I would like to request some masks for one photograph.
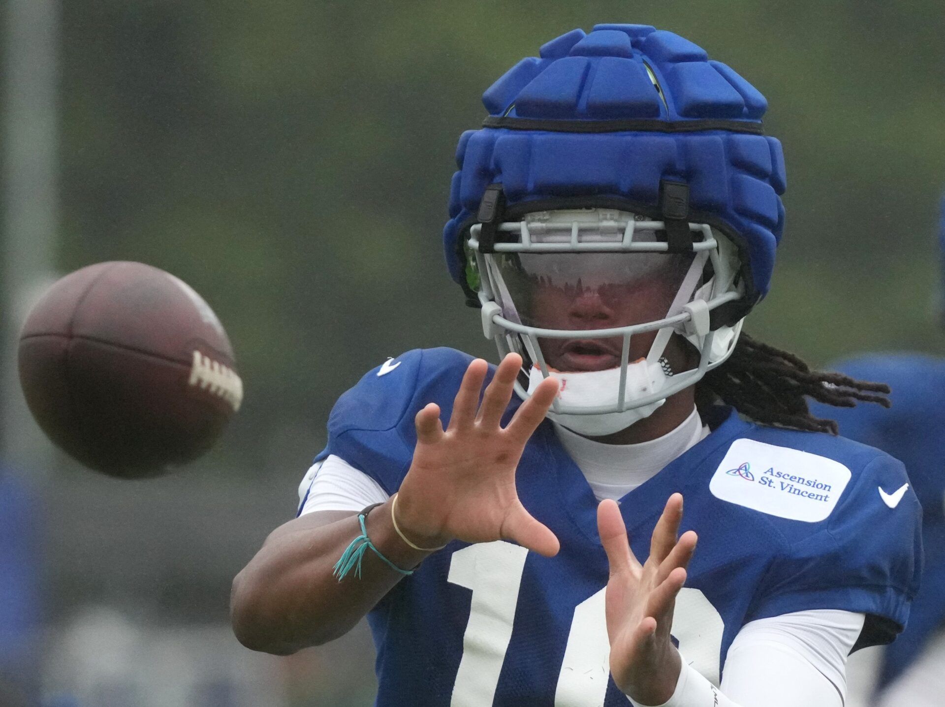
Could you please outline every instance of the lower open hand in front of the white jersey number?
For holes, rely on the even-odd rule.
[[[669,630],[676,595],[696,550],[694,531],[677,540],[681,520],[682,495],[674,493],[653,529],[649,557],[640,564],[630,549],[617,504],[605,500],[597,507],[597,531],[610,562],[606,598],[610,673],[624,694],[643,704],[667,701],[679,680],[681,660]]]

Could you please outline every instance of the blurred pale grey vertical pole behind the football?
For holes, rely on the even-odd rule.
[[[35,477],[49,470],[54,457],[20,390],[16,342],[29,306],[53,279],[59,4],[7,0],[6,6],[0,449],[9,469]]]

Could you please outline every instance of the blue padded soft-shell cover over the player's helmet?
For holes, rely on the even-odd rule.
[[[574,29],[540,54],[490,86],[488,127],[459,138],[443,231],[453,279],[466,288],[462,242],[491,183],[520,212],[531,201],[541,208],[571,198],[658,217],[660,183],[669,180],[689,184],[689,220],[711,223],[738,246],[747,305],[763,298],[785,188],[781,143],[761,134],[765,96],[696,44],[651,26]]]

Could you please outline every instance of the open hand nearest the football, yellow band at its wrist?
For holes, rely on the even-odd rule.
[[[433,547],[505,539],[541,555],[558,552],[558,538],[524,509],[515,488],[525,443],[558,394],[558,381],[542,381],[502,427],[521,366],[521,356],[507,354],[480,405],[489,366],[480,358],[472,361],[445,430],[438,405],[417,413],[417,448],[396,507],[397,523],[413,542]]]

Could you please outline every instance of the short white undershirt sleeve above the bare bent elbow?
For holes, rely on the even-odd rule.
[[[361,510],[387,501],[387,492],[368,474],[329,455],[316,462],[299,486],[299,515],[316,510]]]

